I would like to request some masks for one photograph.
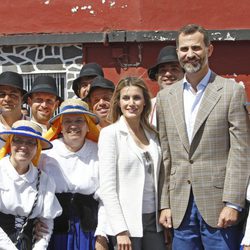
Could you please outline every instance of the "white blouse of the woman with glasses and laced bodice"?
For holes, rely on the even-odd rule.
[[[0,160],[0,211],[14,216],[27,216],[37,193],[38,170],[31,163],[28,172],[19,175],[9,159],[7,156]],[[37,241],[33,249],[47,249],[53,230],[53,219],[61,213],[62,208],[55,197],[55,184],[46,173],[42,172],[38,202],[30,218],[39,218],[46,223],[49,234]],[[2,241],[0,242],[2,249]]]

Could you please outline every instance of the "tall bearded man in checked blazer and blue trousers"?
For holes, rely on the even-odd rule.
[[[237,249],[250,164],[245,91],[209,69],[203,27],[183,27],[176,45],[184,79],[157,96],[160,223],[174,227],[173,249]]]

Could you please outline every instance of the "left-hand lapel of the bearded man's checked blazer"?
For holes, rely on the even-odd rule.
[[[184,117],[183,82],[179,81],[176,83],[176,88],[172,88],[169,94],[168,102],[172,112],[172,118],[174,119],[182,144],[186,151],[189,152],[190,145]]]

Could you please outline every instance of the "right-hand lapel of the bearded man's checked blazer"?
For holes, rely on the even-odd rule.
[[[194,130],[193,130],[193,139],[200,129],[201,125],[204,123],[213,107],[219,101],[221,94],[219,90],[222,88],[222,84],[216,81],[216,74],[212,72],[209,79],[208,85],[205,89],[204,96],[201,101],[199,111],[196,116]],[[194,141],[192,139],[192,142]]]

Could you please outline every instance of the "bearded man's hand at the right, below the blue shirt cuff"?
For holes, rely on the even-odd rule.
[[[239,212],[231,207],[224,207],[220,213],[217,226],[226,228],[234,225],[238,220]]]

